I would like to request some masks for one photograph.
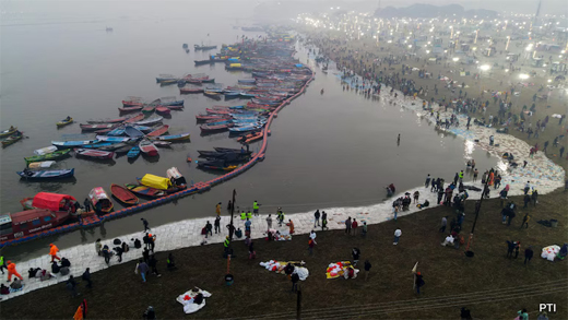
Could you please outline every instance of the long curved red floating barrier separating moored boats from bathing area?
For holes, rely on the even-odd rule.
[[[17,239],[1,241],[0,242],[0,248],[7,247],[7,246],[15,246],[15,245],[21,244],[21,242],[26,242],[26,241],[29,241],[29,240],[33,240],[33,239],[37,239],[37,238],[49,237],[51,235],[62,234],[62,233],[75,230],[75,229],[79,229],[79,228],[92,228],[92,227],[95,227],[95,226],[98,226],[98,225],[105,223],[106,221],[110,221],[110,220],[114,220],[114,218],[126,216],[128,214],[141,212],[141,211],[143,211],[145,209],[151,209],[151,208],[154,208],[154,206],[158,206],[161,204],[164,204],[164,203],[173,201],[173,200],[177,200],[177,199],[186,197],[186,195],[190,195],[190,194],[193,194],[193,193],[203,193],[205,191],[211,190],[211,187],[213,187],[215,185],[218,185],[218,183],[222,183],[222,182],[224,182],[226,180],[232,179],[233,177],[236,177],[236,176],[240,175],[241,173],[244,173],[244,171],[248,170],[249,168],[251,168],[258,162],[261,162],[261,161],[264,159],[267,145],[268,145],[268,137],[271,133],[270,132],[270,125],[272,125],[272,121],[273,121],[274,118],[277,118],[277,114],[280,112],[280,110],[282,110],[282,108],[284,108],[284,106],[289,105],[293,99],[295,99],[296,97],[298,97],[300,94],[303,94],[306,91],[306,87],[308,86],[308,84],[311,81],[313,81],[313,76],[315,75],[316,75],[316,73],[313,73],[313,71],[311,71],[311,78],[308,81],[306,81],[304,86],[295,95],[293,95],[292,97],[288,97],[287,99],[283,100],[279,105],[279,107],[276,107],[270,114],[270,117],[267,120],[267,126],[264,126],[264,128],[263,128],[263,133],[264,134],[262,135],[262,144],[261,144],[259,151],[257,153],[252,154],[252,158],[249,162],[247,162],[246,164],[241,165],[237,169],[235,169],[235,170],[233,170],[230,173],[227,173],[227,174],[225,174],[223,176],[220,176],[220,177],[217,177],[215,179],[209,180],[209,181],[196,182],[196,183],[193,183],[191,186],[191,188],[188,188],[188,189],[185,189],[185,190],[181,190],[181,191],[177,191],[175,193],[171,193],[171,194],[168,194],[168,195],[155,199],[155,200],[150,200],[150,201],[137,204],[137,205],[125,208],[125,209],[115,211],[113,213],[109,213],[109,214],[106,214],[106,215],[103,215],[103,216],[97,216],[95,214],[95,215],[91,215],[91,216],[86,216],[86,217],[81,218],[81,221],[79,223],[72,223],[72,224],[68,224],[68,225],[64,225],[64,226],[59,226],[59,227],[56,227],[56,228],[52,228],[52,229],[49,229],[49,230],[44,230],[44,232],[36,233],[36,234],[33,234],[33,235],[28,235],[28,236],[25,236],[25,237],[22,237],[22,238],[17,238]]]

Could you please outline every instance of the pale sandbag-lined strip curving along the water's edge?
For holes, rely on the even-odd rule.
[[[399,94],[399,96],[402,96]],[[383,90],[381,92],[381,99],[392,99],[392,97],[388,94],[387,90]],[[416,115],[418,117],[425,117],[430,121],[436,121],[434,117],[429,116],[429,111],[423,111],[419,106],[422,106],[421,99],[405,99],[404,97],[395,99],[397,105],[403,106],[405,108],[412,109],[416,111]],[[436,112],[436,108],[435,108]],[[450,112],[442,112],[440,109],[440,119],[449,118]],[[463,117],[463,116],[460,116]],[[472,119],[473,122],[473,119]],[[555,165],[552,161],[549,161],[546,155],[543,152],[537,152],[536,155],[534,155],[533,158],[529,157],[529,150],[530,146],[524,141],[521,141],[512,135],[508,134],[499,134],[496,133],[496,130],[493,128],[485,128],[485,127],[477,127],[472,126],[470,127],[470,130],[466,130],[465,128],[466,120],[460,118],[460,126],[459,127],[451,127],[448,129],[448,132],[451,132],[453,134],[457,134],[463,139],[465,139],[468,142],[466,144],[471,144],[472,147],[481,147],[483,150],[486,150],[488,153],[490,153],[494,156],[501,157],[501,155],[505,152],[513,153],[516,161],[519,164],[522,164],[522,162],[525,159],[529,162],[529,165],[525,168],[522,168],[522,165],[519,165],[517,168],[508,168],[508,164],[506,162],[501,162],[498,164],[497,169],[501,173],[502,181],[501,181],[501,189],[506,185],[510,185],[510,191],[509,195],[519,195],[522,194],[522,189],[524,188],[524,183],[526,181],[531,181],[531,186],[533,186],[535,189],[539,190],[539,193],[549,193],[553,190],[560,188],[564,186],[564,179],[565,179],[565,171],[561,167]],[[488,138],[489,135],[495,137],[495,143],[496,145],[489,145]],[[478,142],[474,142],[474,140],[478,140]],[[464,164],[465,167],[465,164]],[[483,174],[483,171],[486,168],[480,168],[480,175]],[[487,168],[488,169],[488,168]],[[468,173],[471,174],[471,173]],[[452,178],[454,173],[448,173],[448,176],[445,177],[447,181]],[[424,177],[426,178],[426,177]],[[435,177],[434,177],[435,178]],[[384,181],[384,185],[390,183],[391,181]],[[421,181],[421,183],[424,183],[424,181]],[[480,189],[483,188],[481,185],[481,181],[472,182],[472,181],[465,181],[464,185],[466,186],[475,186]],[[497,198],[499,189],[493,189],[490,192],[490,198]],[[356,206],[356,208],[332,208],[332,209],[320,209],[320,211],[326,211],[328,213],[328,227],[329,229],[341,229],[344,228],[344,222],[350,216],[352,218],[355,218],[359,222],[359,225],[363,225],[363,223],[367,224],[378,224],[381,222],[386,222],[392,218],[392,201],[395,198],[403,197],[405,192],[414,193],[414,191],[419,191],[419,203],[424,203],[425,200],[428,200],[430,203],[430,206],[437,206],[437,193],[430,192],[429,188],[425,188],[424,185],[418,188],[414,188],[412,190],[405,190],[398,194],[395,194],[393,198],[378,204],[368,205],[368,206]],[[480,199],[481,192],[469,190],[470,200]],[[427,209],[425,209],[427,210]],[[255,216],[252,218],[252,225],[251,225],[251,238],[258,239],[263,238],[265,236],[267,232],[267,216],[269,213],[262,212],[261,206],[261,215]],[[409,214],[416,213],[418,211],[423,211],[416,205],[412,204],[410,206],[409,211],[400,212],[399,216],[404,216]],[[286,209],[283,208],[283,212],[286,212]],[[285,225],[282,225],[279,227],[277,223],[275,222],[276,215],[275,212],[271,212],[273,223],[272,227],[280,230],[281,234],[287,234],[288,227]],[[470,214],[470,213],[466,213]],[[201,229],[205,226],[206,222],[213,224],[215,217],[212,215],[208,218],[197,218],[197,220],[185,220],[176,223],[170,223],[166,225],[162,225],[158,227],[152,228],[151,233],[153,235],[156,235],[156,244],[155,244],[155,251],[169,251],[174,249],[185,248],[185,247],[191,247],[191,246],[200,246],[203,242],[203,236],[201,235]],[[297,234],[308,234],[313,228],[313,212],[305,212],[305,213],[295,213],[295,214],[286,214],[285,222],[288,220],[292,220],[294,222],[295,226],[295,235]],[[235,227],[245,229],[245,224],[240,218],[235,218]],[[230,222],[230,216],[222,216],[221,218],[221,226],[222,232],[220,234],[213,234],[213,236],[210,236],[206,240],[206,244],[221,244],[224,241],[225,236],[228,234],[227,228],[225,227]],[[152,223],[152,222],[150,222]],[[141,223],[141,229],[142,229],[142,223]],[[319,228],[321,229],[321,228]],[[394,230],[393,230],[394,232]],[[404,230],[403,230],[404,232]],[[141,239],[143,237],[143,233],[135,233],[135,234],[129,234],[119,237],[120,240],[130,240],[131,238],[139,238]],[[240,240],[242,240],[241,238]],[[114,239],[106,239],[103,245],[107,245],[109,248],[115,247],[113,245]],[[237,239],[239,240],[239,239]],[[292,240],[294,241],[294,236],[292,237]],[[57,245],[57,244],[56,244]],[[220,247],[220,253],[221,253],[221,247]],[[26,275],[27,270],[29,268],[42,268],[46,270],[50,269],[50,257],[49,257],[49,248],[46,247],[45,249],[46,254],[36,259],[31,259],[27,261],[13,261],[16,263],[16,269],[21,274]],[[86,268],[91,269],[91,272],[97,272],[99,270],[108,268],[105,263],[104,258],[98,257],[95,252],[95,246],[94,244],[87,244],[87,245],[81,245],[75,246],[69,249],[61,250],[59,257],[66,257],[71,261],[71,272],[73,276],[81,276],[81,274],[85,271]],[[122,254],[122,262],[120,263],[127,263],[132,260],[138,260],[142,257],[142,250],[141,249],[133,249],[131,248],[129,252],[126,252]],[[110,262],[110,266],[114,264],[118,264],[119,262],[117,259],[113,258]],[[10,295],[2,296],[3,299],[10,299],[12,297],[24,295],[28,292],[47,287],[50,285],[55,285],[60,282],[64,282],[69,278],[69,276],[56,276],[47,281],[40,282],[37,278],[28,280],[25,276],[24,281],[24,287],[20,292],[11,293]]]

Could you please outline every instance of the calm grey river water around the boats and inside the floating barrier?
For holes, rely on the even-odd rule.
[[[27,182],[15,175],[25,165],[23,157],[34,150],[64,134],[80,133],[78,123],[56,128],[55,123],[68,115],[78,122],[116,118],[117,107],[127,96],[147,100],[179,97],[177,86],[155,83],[159,73],[206,73],[224,85],[249,78],[246,73],[228,73],[222,64],[196,68],[193,60],[206,59],[206,54],[191,50],[188,55],[181,48],[184,43],[192,47],[201,42],[235,42],[244,33],[233,25],[250,24],[246,22],[249,10],[228,2],[196,3],[45,1],[23,2],[17,8],[12,2],[12,7],[2,8],[0,125],[17,126],[29,137],[0,151],[2,213],[20,211],[19,200],[39,191],[69,193],[82,200],[94,187],[108,191],[110,183],[132,182],[146,173],[165,176],[171,166],[196,182],[214,177],[188,164],[188,152],[196,158],[197,150],[239,145],[228,139],[228,133],[200,137],[194,116],[206,107],[239,102],[217,103],[202,95],[182,96],[185,110],[173,111],[171,119],[164,121],[171,134],[190,132],[191,142],[161,150],[157,162],[140,157],[129,164],[121,157],[100,164],[70,157],[61,166],[75,168],[72,181]],[[106,32],[106,26],[114,31]],[[298,50],[298,57],[306,61],[305,49]],[[344,92],[333,71],[323,74],[315,70],[316,80],[307,92],[285,107],[271,127],[264,162],[244,175],[203,194],[111,221],[103,227],[5,248],[4,256],[32,258],[47,253],[49,242],[67,248],[98,237],[114,238],[139,230],[141,217],[156,226],[213,215],[215,204],[222,201],[226,205],[233,189],[237,190],[237,205],[249,208],[258,200],[261,213],[275,212],[277,206],[295,213],[378,203],[384,199],[384,186],[393,182],[399,190],[411,189],[422,185],[427,174],[448,181],[464,168],[468,157],[475,158],[480,170],[496,164],[496,158],[474,150],[473,144],[436,132],[414,112]],[[257,145],[251,144],[251,149]]]

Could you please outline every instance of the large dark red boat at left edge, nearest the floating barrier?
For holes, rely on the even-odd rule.
[[[0,215],[0,241],[17,239],[42,233],[63,224],[70,217],[69,211],[54,212],[33,209]]]

